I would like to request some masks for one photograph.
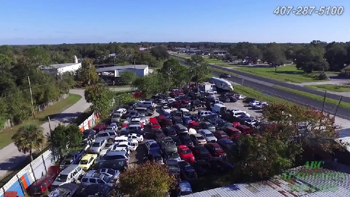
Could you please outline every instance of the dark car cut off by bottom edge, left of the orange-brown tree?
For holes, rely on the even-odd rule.
[[[108,187],[103,184],[91,184],[86,187],[79,187],[79,189],[74,193],[74,197],[87,197],[96,194],[99,197],[107,197],[112,189],[112,187]]]

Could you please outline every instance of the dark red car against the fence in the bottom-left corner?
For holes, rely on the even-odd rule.
[[[32,183],[31,186],[27,189],[27,192],[31,196],[44,194],[46,191],[48,191],[48,188],[50,188],[58,173],[58,166],[50,166],[48,173]]]

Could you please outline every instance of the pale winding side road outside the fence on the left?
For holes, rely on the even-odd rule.
[[[130,90],[130,88],[114,88],[115,91]],[[51,127],[55,128],[58,124],[67,125],[74,121],[80,114],[82,114],[90,103],[87,103],[84,97],[84,90],[70,90],[70,93],[79,94],[82,98],[74,105],[64,110],[62,113],[57,114],[51,119]],[[45,133],[50,133],[49,123],[46,122],[41,125]],[[11,171],[18,165],[18,163],[28,158],[28,154],[23,154],[18,151],[14,143],[7,145],[0,150],[0,178],[4,176],[8,171]]]

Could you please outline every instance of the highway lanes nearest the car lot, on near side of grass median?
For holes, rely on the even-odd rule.
[[[180,64],[188,66],[186,64],[186,62],[181,61],[181,59],[180,59]],[[214,67],[213,65],[210,65],[210,66]],[[216,66],[215,66],[215,68],[216,68]],[[219,67],[219,69],[223,70],[225,68]],[[225,72],[225,71],[223,71],[223,72]],[[232,71],[230,71],[230,72],[232,72]],[[212,74],[216,75],[216,76],[220,76],[221,72],[213,71]],[[322,109],[323,102],[321,102],[321,101],[317,101],[317,100],[314,100],[314,99],[311,99],[311,98],[308,98],[308,97],[305,97],[305,96],[300,96],[300,95],[297,95],[297,94],[294,94],[294,93],[291,93],[291,92],[288,92],[288,91],[284,91],[284,90],[280,90],[280,89],[274,88],[272,86],[269,86],[268,84],[261,83],[261,82],[259,82],[258,80],[254,79],[254,78],[253,79],[250,79],[249,77],[243,77],[243,78],[245,79],[244,80],[244,86],[260,90],[266,95],[280,97],[280,98],[283,98],[285,100],[294,102],[296,104],[312,107],[312,108],[315,108],[315,109],[318,109],[318,110]],[[229,81],[231,83],[234,82],[234,83],[242,84],[242,77],[240,77],[240,76],[238,76],[238,77],[237,76],[232,76],[227,81]],[[282,84],[281,86],[284,86],[284,85]],[[322,96],[324,96],[324,95],[322,95]],[[339,98],[337,98],[337,99],[339,99]],[[330,113],[330,114],[334,114],[335,108],[336,108],[335,105],[331,105],[331,104],[326,103],[325,107],[324,107],[324,112]],[[337,111],[336,115],[338,117],[340,117],[340,118],[344,118],[344,119],[350,120],[350,109],[343,108],[343,107],[338,107],[338,111]]]

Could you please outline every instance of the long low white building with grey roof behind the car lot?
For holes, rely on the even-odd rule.
[[[127,66],[111,66],[97,69],[98,73],[111,73],[114,77],[120,77],[123,72],[135,72],[136,76],[146,76],[149,74],[148,65],[127,65]]]

